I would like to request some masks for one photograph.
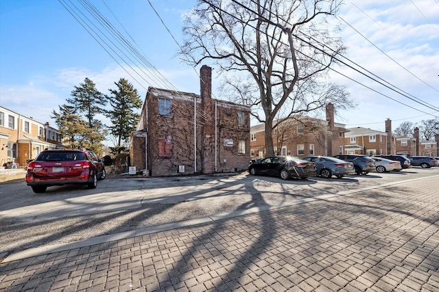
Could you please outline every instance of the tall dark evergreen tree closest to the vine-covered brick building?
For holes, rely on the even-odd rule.
[[[110,96],[107,98],[111,109],[106,116],[111,120],[112,125],[109,129],[112,135],[117,137],[117,146],[120,148],[122,142],[126,142],[130,133],[136,129],[140,115],[134,112],[134,109],[140,109],[142,101],[137,89],[126,79],[119,79],[115,85],[117,90],[109,89]]]

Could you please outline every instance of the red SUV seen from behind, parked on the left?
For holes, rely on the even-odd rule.
[[[77,183],[94,189],[105,176],[104,163],[91,150],[44,150],[27,165],[26,183],[35,193]]]

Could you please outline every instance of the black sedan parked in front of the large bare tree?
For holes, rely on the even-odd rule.
[[[316,175],[316,165],[298,157],[274,156],[263,159],[261,163],[250,163],[248,172],[252,175],[280,176],[282,179],[306,179]]]

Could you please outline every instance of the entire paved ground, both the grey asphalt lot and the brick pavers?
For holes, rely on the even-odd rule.
[[[19,244],[3,254],[0,289],[438,291],[438,181],[439,168],[412,168],[108,179],[38,195],[5,184],[1,236]]]

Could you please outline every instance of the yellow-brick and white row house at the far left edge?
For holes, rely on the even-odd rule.
[[[40,151],[61,142],[62,135],[49,123],[0,106],[0,167],[9,161],[25,166]]]

